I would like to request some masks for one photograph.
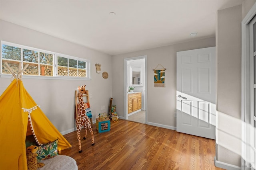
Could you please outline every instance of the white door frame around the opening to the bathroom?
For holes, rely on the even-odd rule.
[[[143,55],[143,56],[138,56],[138,57],[131,57],[131,58],[126,58],[124,59],[124,118],[127,120],[128,119],[128,87],[127,87],[127,83],[128,83],[128,78],[127,78],[127,61],[129,60],[136,60],[136,59],[145,59],[145,93],[144,93],[144,108],[145,108],[145,124],[147,124],[147,120],[148,120],[148,100],[147,100],[147,93],[148,93],[148,80],[147,80],[147,56]]]

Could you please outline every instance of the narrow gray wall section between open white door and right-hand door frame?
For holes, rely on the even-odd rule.
[[[217,13],[216,160],[241,166],[241,21],[255,0]]]

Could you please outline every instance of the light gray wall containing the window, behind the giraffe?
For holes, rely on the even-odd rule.
[[[90,81],[23,78],[24,87],[30,96],[60,132],[74,131],[74,92],[77,86],[86,84],[86,89],[92,94],[90,106],[93,121],[98,113],[108,112],[112,84],[110,55],[3,20],[0,20],[0,40],[90,60]],[[101,74],[96,73],[96,63],[101,64]],[[108,79],[102,78],[103,71],[108,72]],[[0,94],[9,84],[9,78],[0,78]],[[101,110],[101,106],[105,106],[105,109]]]

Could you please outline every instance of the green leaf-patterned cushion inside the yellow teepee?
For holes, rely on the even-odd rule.
[[[37,151],[37,160],[40,161],[58,155],[57,146],[58,139],[56,141],[40,146]]]

